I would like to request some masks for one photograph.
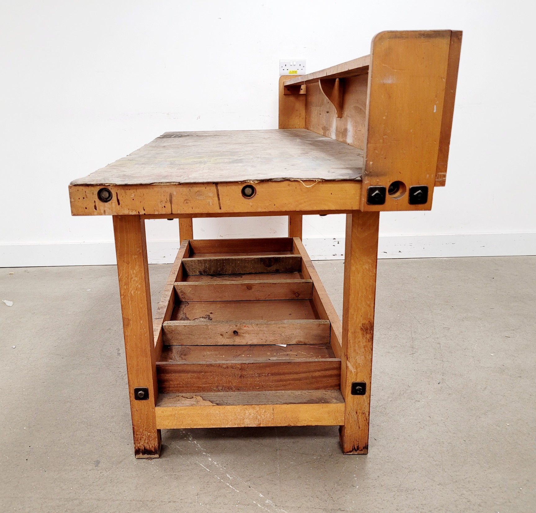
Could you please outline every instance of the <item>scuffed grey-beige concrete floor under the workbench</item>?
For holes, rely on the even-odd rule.
[[[340,314],[343,263],[315,265]],[[165,430],[153,460],[132,451],[115,267],[1,269],[0,511],[534,512],[535,265],[378,262],[368,456],[279,427]]]

